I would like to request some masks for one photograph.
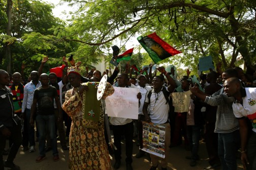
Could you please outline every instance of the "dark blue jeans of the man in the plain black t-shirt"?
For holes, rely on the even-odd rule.
[[[55,115],[41,115],[38,114],[36,117],[38,132],[39,132],[39,154],[40,156],[45,156],[45,137],[46,132],[49,133],[51,139],[51,146],[52,146],[52,154],[53,156],[58,155],[57,150],[57,139],[55,135]]]

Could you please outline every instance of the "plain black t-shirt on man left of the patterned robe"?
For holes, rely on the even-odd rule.
[[[49,86],[47,89],[42,87],[34,92],[34,99],[37,99],[38,114],[54,114],[54,97],[58,97],[56,88]]]

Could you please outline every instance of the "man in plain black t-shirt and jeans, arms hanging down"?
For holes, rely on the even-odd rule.
[[[45,73],[41,74],[40,81],[42,87],[34,92],[33,104],[31,106],[30,123],[34,125],[34,115],[36,112],[37,104],[37,117],[36,122],[39,131],[39,154],[36,162],[41,162],[45,158],[45,134],[46,130],[50,135],[52,142],[53,161],[58,161],[57,139],[55,135],[55,115],[54,115],[54,99],[58,108],[58,117],[60,117],[61,107],[58,99],[56,88],[50,86],[49,76]]]

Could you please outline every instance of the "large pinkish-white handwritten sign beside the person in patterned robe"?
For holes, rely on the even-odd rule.
[[[138,119],[139,89],[114,87],[113,95],[106,98],[108,116]]]

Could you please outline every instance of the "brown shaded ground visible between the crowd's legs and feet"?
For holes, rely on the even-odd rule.
[[[124,141],[123,141],[124,143]],[[38,144],[38,143],[37,143]],[[36,152],[29,153],[28,151],[23,152],[22,147],[20,147],[20,150],[15,158],[15,164],[19,165],[21,167],[21,170],[66,170],[68,169],[68,157],[69,157],[69,151],[63,151],[58,143],[58,151],[59,151],[59,157],[60,160],[57,162],[54,162],[52,160],[53,156],[51,151],[47,152],[46,159],[44,159],[42,162],[37,163],[35,160],[39,154],[38,147],[36,148]],[[122,162],[120,170],[125,170],[125,151],[124,151],[124,144],[122,144]],[[133,149],[133,168],[134,170],[147,170],[150,168],[151,163],[148,160],[147,156],[145,155],[142,158],[137,159],[135,157],[136,153],[138,152],[138,147],[136,146],[136,141],[134,141],[134,149]],[[198,161],[198,164],[195,167],[189,166],[189,160],[185,159],[185,156],[190,155],[189,151],[186,151],[184,147],[178,146],[173,147],[170,150],[170,157],[169,157],[169,163],[168,163],[168,169],[169,170],[202,170],[204,167],[208,166],[207,161],[207,153],[205,150],[205,144],[201,143],[199,148],[199,155],[200,160]],[[6,158],[6,157],[5,157]],[[111,156],[111,163],[114,164],[113,157]],[[238,170],[242,169],[241,167],[241,161],[238,158]],[[161,169],[159,167],[158,169]]]

